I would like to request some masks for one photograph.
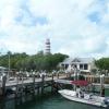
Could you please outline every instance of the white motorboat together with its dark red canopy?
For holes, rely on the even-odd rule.
[[[72,83],[76,84],[77,86],[78,85],[86,86],[88,84],[86,81],[74,81]],[[77,90],[71,90],[71,89],[61,89],[59,90],[59,93],[69,100],[102,108],[109,107],[109,97],[101,97],[93,93],[85,93],[85,92],[84,94],[78,94]]]

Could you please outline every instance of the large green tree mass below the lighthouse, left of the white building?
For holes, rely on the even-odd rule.
[[[10,58],[10,68],[15,70],[56,70],[58,64],[62,62],[69,56],[62,53],[55,55],[44,55],[43,51],[37,52],[37,55],[26,55],[23,53],[12,53],[8,52],[7,55],[0,56],[0,65],[9,68],[9,58]]]

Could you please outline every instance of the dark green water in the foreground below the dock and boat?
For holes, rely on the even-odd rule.
[[[109,93],[107,92],[109,96]],[[26,99],[26,100],[25,100]],[[45,96],[7,100],[0,104],[0,109],[101,109],[64,99],[59,94],[45,94]]]

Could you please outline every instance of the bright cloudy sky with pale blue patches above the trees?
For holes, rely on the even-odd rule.
[[[109,0],[0,0],[0,52],[109,57]]]

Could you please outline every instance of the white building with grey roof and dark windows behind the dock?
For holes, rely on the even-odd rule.
[[[60,66],[69,71],[76,69],[81,72],[90,72],[96,69],[94,58],[66,58]]]

